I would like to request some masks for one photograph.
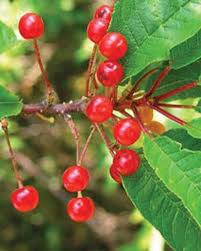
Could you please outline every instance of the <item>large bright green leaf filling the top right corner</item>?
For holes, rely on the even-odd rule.
[[[119,1],[110,31],[121,32],[128,40],[125,78],[168,60],[170,49],[200,30],[200,8],[201,0]]]

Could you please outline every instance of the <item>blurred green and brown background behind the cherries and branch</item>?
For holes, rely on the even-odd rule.
[[[0,19],[16,34],[25,12],[39,13],[45,21],[40,40],[41,54],[51,82],[61,101],[80,98],[92,43],[86,26],[97,6],[95,0],[1,0]],[[20,36],[19,36],[19,39]],[[18,94],[25,103],[43,98],[41,75],[31,42],[20,41],[0,55],[0,84]],[[89,133],[83,115],[73,116],[82,142]],[[36,117],[9,121],[11,141],[17,153],[25,184],[40,191],[40,206],[33,213],[20,214],[10,204],[16,187],[8,152],[0,132],[0,251],[162,251],[170,250],[160,234],[133,207],[123,189],[109,177],[111,158],[98,135],[89,147],[85,166],[92,174],[89,189],[97,205],[88,224],[70,221],[66,203],[73,196],[63,190],[61,175],[75,163],[71,134],[60,118],[48,124]]]

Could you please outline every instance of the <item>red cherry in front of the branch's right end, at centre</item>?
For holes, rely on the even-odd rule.
[[[95,123],[105,122],[112,117],[112,112],[112,102],[102,95],[94,96],[86,108],[87,117]]]

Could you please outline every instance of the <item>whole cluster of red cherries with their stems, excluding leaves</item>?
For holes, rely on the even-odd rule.
[[[89,62],[88,77],[86,80],[85,100],[87,100],[87,104],[85,103],[84,112],[91,121],[93,129],[81,155],[79,154],[80,146],[74,122],[69,120],[69,116],[64,116],[72,134],[75,136],[77,146],[77,163],[74,166],[68,167],[62,176],[64,188],[68,192],[77,193],[77,197],[71,199],[66,206],[67,214],[75,222],[90,220],[95,211],[93,200],[89,197],[82,196],[82,192],[87,188],[90,181],[89,172],[82,166],[82,161],[95,131],[100,134],[113,157],[110,175],[117,183],[121,184],[122,177],[133,175],[141,163],[136,151],[128,148],[122,149],[121,147],[128,147],[136,143],[142,132],[150,137],[152,137],[152,134],[159,135],[165,132],[164,125],[153,120],[153,110],[180,125],[186,125],[187,123],[185,121],[170,114],[164,110],[163,107],[194,108],[192,105],[167,104],[162,101],[179,92],[196,87],[196,82],[185,84],[159,96],[152,97],[162,80],[169,73],[170,66],[167,66],[164,71],[160,73],[147,93],[140,92],[139,86],[146,78],[155,73],[158,70],[157,68],[150,70],[140,77],[132,89],[126,87],[124,92],[121,93],[121,96],[118,97],[118,84],[124,77],[124,68],[119,60],[126,55],[128,43],[121,33],[108,32],[113,11],[113,7],[108,5],[99,7],[94,14],[93,20],[90,21],[87,27],[88,38],[93,41],[95,45]],[[19,21],[19,32],[22,37],[26,40],[33,40],[35,55],[46,87],[46,108],[48,108],[54,104],[56,94],[52,84],[47,78],[37,44],[37,39],[44,33],[44,27],[42,18],[35,13],[26,13]],[[100,55],[107,59],[99,65],[96,65],[97,48],[99,49]],[[93,78],[93,81],[91,81],[91,78]],[[94,86],[91,85],[90,81],[93,82]],[[104,88],[105,95],[96,93],[99,86]],[[92,87],[95,91],[92,91]],[[129,113],[128,110],[131,113]],[[115,112],[120,113],[120,116],[117,116]],[[62,115],[65,115],[64,112]],[[125,118],[122,118],[121,115]],[[113,145],[111,145],[111,141],[108,139],[102,127],[102,124],[108,121],[112,121],[113,123],[112,132],[116,141]],[[18,189],[11,194],[12,205],[20,212],[32,211],[39,203],[38,191],[33,186],[23,185],[9,140],[7,121],[3,119],[0,123],[5,133],[12,165],[18,182]]]

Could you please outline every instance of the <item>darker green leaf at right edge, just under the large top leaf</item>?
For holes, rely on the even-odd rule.
[[[171,65],[179,69],[201,58],[201,30],[170,51]]]

